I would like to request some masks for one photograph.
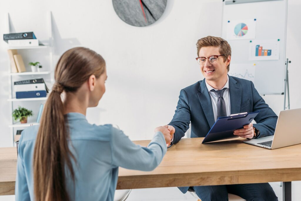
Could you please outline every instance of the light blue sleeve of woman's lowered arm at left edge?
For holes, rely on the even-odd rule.
[[[22,139],[23,139],[23,135],[21,135],[19,140],[17,176],[16,176],[16,184],[15,184],[15,195],[16,195],[16,200],[18,201],[30,200],[28,184],[27,184],[27,180],[25,176],[26,174],[24,170]]]

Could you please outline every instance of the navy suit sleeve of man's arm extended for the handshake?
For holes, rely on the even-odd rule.
[[[188,96],[186,91],[182,89],[180,91],[179,101],[175,115],[173,116],[169,125],[175,128],[172,144],[177,143],[184,137],[185,132],[188,130],[190,124],[190,107],[188,102]]]

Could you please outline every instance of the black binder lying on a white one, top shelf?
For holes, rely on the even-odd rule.
[[[3,34],[3,40],[8,43],[10,48],[34,47],[43,45],[33,32],[8,33]]]

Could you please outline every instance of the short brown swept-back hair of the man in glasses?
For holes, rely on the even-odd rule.
[[[215,37],[215,36],[207,36],[204,38],[201,38],[197,41],[197,56],[199,57],[199,52],[200,49],[202,47],[209,47],[209,46],[213,46],[213,47],[219,47],[219,53],[221,55],[224,55],[224,62],[227,60],[228,56],[231,56],[231,47],[229,45],[229,43],[219,37]],[[230,70],[230,63],[227,66],[227,70],[229,72]]]

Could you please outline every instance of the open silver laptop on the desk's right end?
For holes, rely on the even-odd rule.
[[[280,111],[274,135],[247,140],[244,143],[268,149],[301,144],[300,124],[301,108]]]

